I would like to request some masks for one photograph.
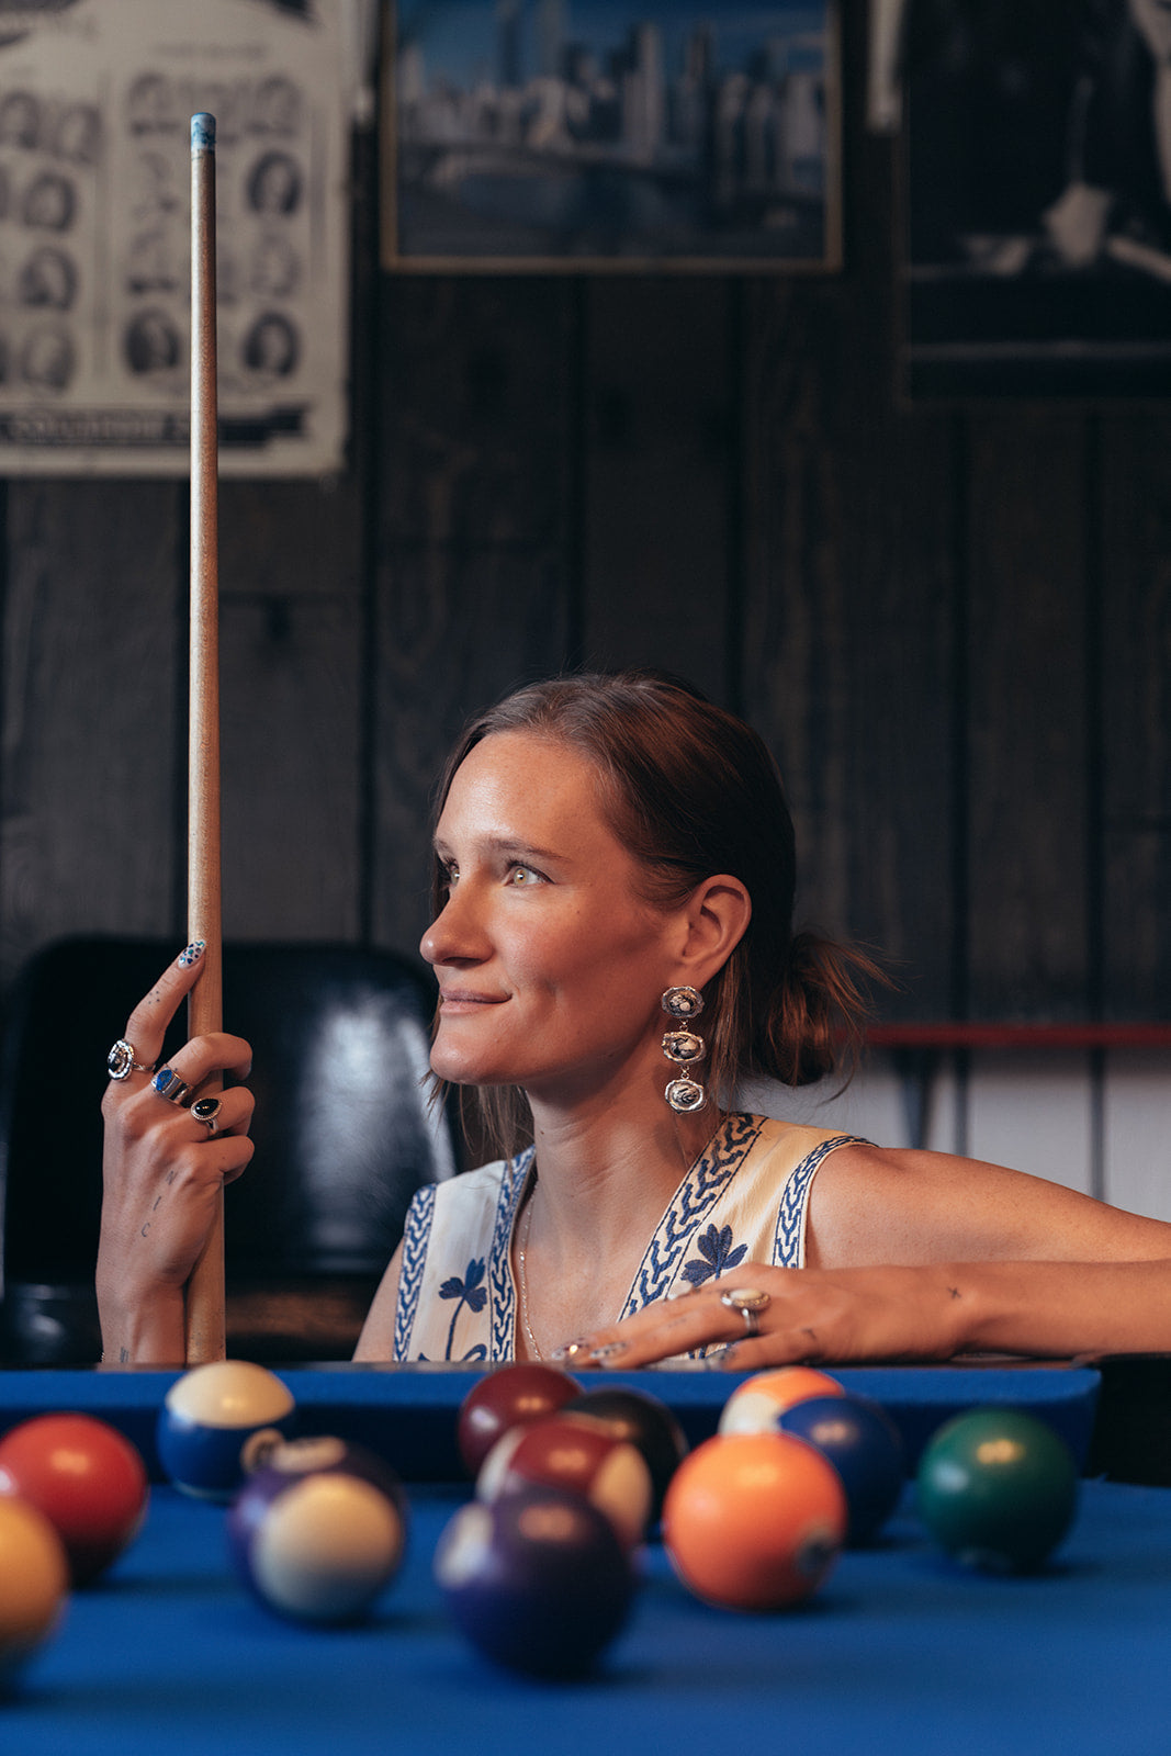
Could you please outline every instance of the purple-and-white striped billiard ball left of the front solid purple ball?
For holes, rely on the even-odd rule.
[[[407,1503],[360,1445],[323,1436],[269,1452],[228,1512],[228,1547],[260,1601],[291,1621],[355,1623],[399,1572]]]

